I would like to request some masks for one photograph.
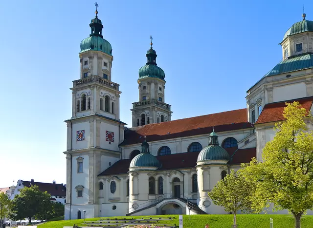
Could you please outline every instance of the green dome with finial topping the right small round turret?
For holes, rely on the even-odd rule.
[[[198,162],[207,160],[229,161],[229,154],[225,151],[223,147],[220,146],[217,138],[218,136],[213,130],[213,132],[210,134],[209,145],[203,148],[198,155]]]

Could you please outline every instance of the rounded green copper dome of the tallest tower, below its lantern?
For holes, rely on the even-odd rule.
[[[80,53],[89,50],[101,51],[112,56],[112,46],[109,43],[109,41],[98,36],[91,36],[89,38],[85,38],[80,43]]]

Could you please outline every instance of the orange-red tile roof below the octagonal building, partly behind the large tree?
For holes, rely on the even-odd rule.
[[[286,107],[286,102],[291,103],[293,101],[298,101],[301,108],[305,108],[307,111],[310,111],[313,103],[313,96],[266,104],[255,124],[285,120],[283,111]]]

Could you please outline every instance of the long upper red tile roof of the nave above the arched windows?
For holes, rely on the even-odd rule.
[[[238,109],[130,128],[125,131],[125,139],[121,145],[141,143],[143,136],[152,142],[207,134],[212,132],[213,127],[216,132],[252,128],[247,122],[246,109]]]

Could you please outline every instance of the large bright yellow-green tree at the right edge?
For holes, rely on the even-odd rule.
[[[313,133],[306,122],[312,116],[298,102],[287,104],[286,121],[275,124],[276,135],[263,149],[263,162],[244,165],[247,180],[256,186],[252,207],[261,211],[288,209],[300,227],[302,214],[313,209]]]

